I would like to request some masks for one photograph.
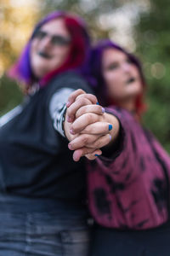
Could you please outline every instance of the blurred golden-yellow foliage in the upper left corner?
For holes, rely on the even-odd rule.
[[[20,54],[37,18],[35,3],[1,0],[0,3],[0,75]],[[20,4],[19,4],[20,3]]]

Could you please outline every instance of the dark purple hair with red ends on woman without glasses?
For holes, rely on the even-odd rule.
[[[128,59],[138,68],[140,78],[142,81],[143,87],[145,87],[144,73],[142,71],[141,64],[139,60],[132,54],[128,53],[126,49],[123,49],[118,44],[111,42],[109,39],[101,40],[99,43],[91,50],[91,55],[89,58],[89,73],[91,74],[92,79],[95,81],[94,90],[98,96],[99,102],[102,105],[108,106],[113,103],[110,101],[110,98],[107,94],[106,84],[104,77],[102,75],[102,56],[105,49],[118,49],[127,55]],[[137,113],[142,113],[144,111],[145,105],[143,102],[143,93],[136,100],[136,111]]]

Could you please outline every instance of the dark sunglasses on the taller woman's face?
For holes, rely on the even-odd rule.
[[[48,34],[47,32],[38,30],[33,38],[37,38],[39,40],[42,40],[43,38],[49,37],[51,44],[55,45],[59,45],[59,46],[65,46],[71,43],[71,38],[65,38],[62,37],[60,35],[54,35],[51,36],[50,34]]]

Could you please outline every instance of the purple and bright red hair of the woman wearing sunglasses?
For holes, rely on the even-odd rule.
[[[11,77],[13,79],[20,80],[21,82],[26,84],[27,87],[31,86],[31,84],[33,84],[34,82],[37,81],[37,79],[35,78],[32,70],[31,70],[31,61],[30,61],[31,40],[32,40],[32,38],[34,38],[36,32],[40,29],[41,26],[43,26],[44,24],[48,23],[49,21],[55,20],[57,18],[65,18],[65,20],[66,19],[69,20],[69,21],[66,21],[68,23],[66,25],[68,25],[68,26],[70,26],[69,22],[71,22],[71,26],[73,26],[73,27],[71,27],[71,26],[69,27],[69,28],[71,28],[71,31],[70,31],[72,33],[71,36],[75,37],[75,33],[78,32],[79,34],[77,35],[77,38],[78,37],[83,38],[83,42],[80,47],[82,47],[82,50],[86,50],[86,52],[82,56],[82,60],[79,60],[79,61],[76,60],[74,65],[71,65],[72,63],[67,63],[65,65],[66,66],[65,68],[62,67],[62,70],[69,69],[69,68],[81,67],[80,64],[83,64],[83,63],[81,63],[81,61],[82,62],[88,61],[89,49],[90,49],[90,38],[88,36],[88,32],[87,32],[84,21],[82,19],[80,19],[79,17],[77,17],[76,15],[74,15],[74,16],[68,15],[64,11],[54,11],[53,13],[50,13],[49,15],[47,15],[46,17],[44,17],[42,20],[40,20],[37,23],[37,25],[35,26],[32,34],[31,34],[31,38],[29,39],[28,43],[26,44],[25,49],[23,50],[23,52],[20,55],[19,60],[16,61],[16,63],[14,63],[14,66],[11,67],[10,70],[8,71],[9,77]],[[80,31],[80,29],[81,29],[81,31]],[[73,40],[73,41],[75,43],[75,40]],[[76,44],[79,44],[79,43],[76,43]],[[82,68],[84,68],[83,65],[82,65]],[[51,79],[55,73],[57,73],[57,69],[54,70],[54,72],[51,76],[48,75],[48,79]],[[45,82],[42,81],[42,84],[46,83],[48,79],[44,79]]]

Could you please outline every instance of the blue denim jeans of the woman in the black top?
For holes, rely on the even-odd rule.
[[[37,212],[31,211],[30,206],[21,211],[19,205],[14,207],[16,198],[13,201],[9,196],[8,202],[2,198],[0,196],[0,256],[88,255],[90,228],[81,212],[69,214],[51,209]]]

